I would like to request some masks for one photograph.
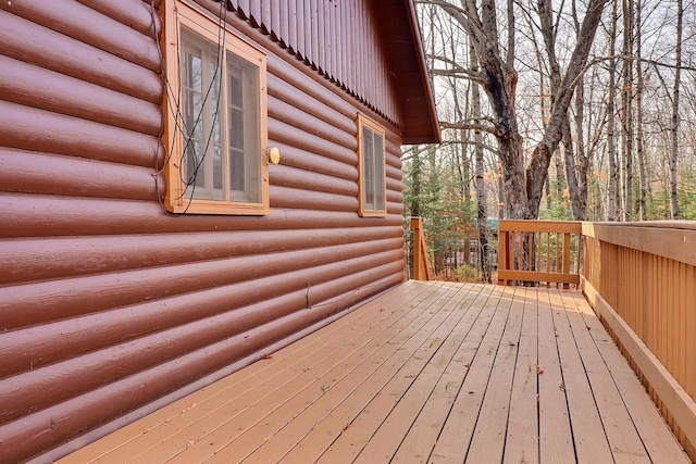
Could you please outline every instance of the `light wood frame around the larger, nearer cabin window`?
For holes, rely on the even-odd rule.
[[[269,199],[269,164],[268,156],[268,95],[266,95],[266,55],[263,51],[259,50],[253,45],[246,41],[243,37],[238,36],[228,26],[223,26],[221,29],[222,21],[216,20],[213,15],[202,12],[192,8],[183,1],[165,0],[164,2],[164,52],[165,52],[165,73],[169,88],[169,97],[164,99],[163,111],[165,112],[165,139],[164,146],[166,149],[167,158],[164,165],[164,175],[166,178],[166,195],[164,198],[164,205],[167,211],[173,213],[191,213],[191,214],[227,214],[227,215],[268,215],[271,213],[270,199]],[[229,201],[224,200],[209,200],[209,199],[196,199],[185,196],[186,185],[183,180],[185,176],[185,160],[184,160],[184,145],[186,142],[186,133],[184,129],[184,115],[183,111],[177,111],[177,108],[183,104],[183,86],[181,70],[183,64],[181,53],[184,50],[184,43],[182,38],[182,27],[188,29],[188,34],[195,34],[197,38],[212,42],[213,45],[220,43],[224,40],[225,61],[221,70],[223,71],[219,78],[227,86],[227,53],[243,60],[244,62],[251,64],[258,68],[258,115],[257,127],[259,130],[258,142],[258,165],[259,165],[259,196],[260,201],[247,202],[235,201],[235,190],[231,189],[229,183],[225,185],[224,179],[229,176],[228,172],[225,173],[223,168],[223,192],[225,197],[231,196]],[[190,45],[189,45],[190,46]],[[174,95],[172,95],[174,93]],[[246,98],[246,97],[245,97]],[[227,117],[228,99],[225,96],[221,96],[221,103],[219,106],[219,115],[223,114],[223,117]],[[222,133],[223,140],[227,140],[229,127],[223,127]],[[203,135],[206,137],[207,134]],[[231,147],[229,143],[223,143],[224,156],[229,156]],[[245,152],[245,160],[250,156]],[[229,159],[227,163],[229,163]],[[223,162],[223,166],[225,162]],[[228,171],[228,170],[227,170]]]

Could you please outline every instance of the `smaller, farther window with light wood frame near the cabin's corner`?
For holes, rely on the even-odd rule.
[[[358,160],[360,170],[360,215],[386,216],[384,127],[358,115]]]

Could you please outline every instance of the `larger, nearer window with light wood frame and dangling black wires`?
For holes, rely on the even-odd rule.
[[[167,208],[268,213],[265,57],[183,2],[167,20],[167,77],[179,89],[167,122]]]

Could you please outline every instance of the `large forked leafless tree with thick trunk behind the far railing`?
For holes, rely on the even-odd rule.
[[[512,2],[508,1],[507,9],[507,50],[502,48],[499,38],[494,0],[481,0],[480,4],[475,0],[461,0],[460,5],[445,0],[430,0],[427,3],[440,7],[459,23],[474,47],[481,70],[471,73],[470,77],[483,86],[495,117],[493,125],[502,164],[506,215],[511,218],[537,217],[548,166],[561,141],[568,109],[577,79],[585,71],[606,0],[589,0],[587,3],[577,42],[552,98],[548,125],[542,140],[534,147],[526,167],[515,109],[518,72],[514,68],[515,24]],[[539,1],[539,10],[542,8],[550,8],[550,1]]]

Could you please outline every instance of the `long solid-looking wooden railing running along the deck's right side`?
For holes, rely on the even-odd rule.
[[[696,223],[584,223],[582,288],[696,462]]]

